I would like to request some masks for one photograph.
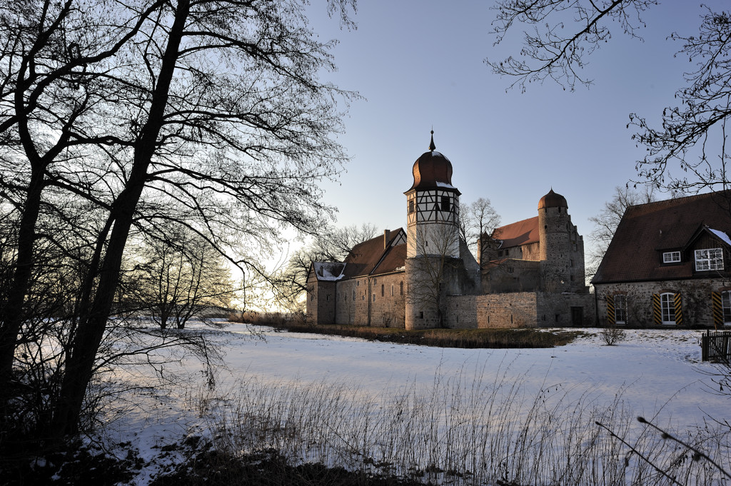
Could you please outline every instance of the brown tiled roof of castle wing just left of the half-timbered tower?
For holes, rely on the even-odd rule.
[[[401,242],[406,242],[406,233],[399,228],[387,235],[376,236],[357,244],[345,258],[344,278],[387,273],[403,267],[406,261],[406,245]],[[398,257],[401,254],[400,248],[394,251],[399,246],[404,246],[403,257]]]

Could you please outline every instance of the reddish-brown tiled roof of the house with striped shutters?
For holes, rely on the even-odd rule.
[[[690,278],[693,262],[662,265],[664,251],[683,251],[703,232],[726,243],[731,191],[630,206],[624,211],[592,284]],[[712,230],[711,230],[712,229]]]

